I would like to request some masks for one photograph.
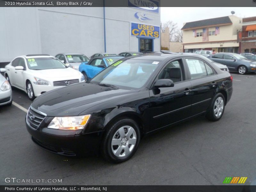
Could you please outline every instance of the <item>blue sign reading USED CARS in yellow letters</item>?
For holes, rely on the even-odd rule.
[[[140,23],[131,23],[131,35],[160,38],[160,27]]]

